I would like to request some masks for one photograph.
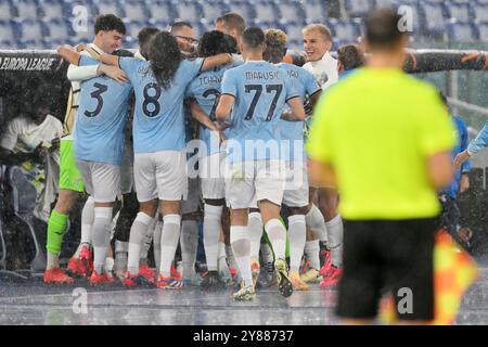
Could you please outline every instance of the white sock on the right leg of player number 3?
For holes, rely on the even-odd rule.
[[[92,229],[93,268],[101,274],[105,265],[107,233],[112,220],[112,207],[95,207]]]

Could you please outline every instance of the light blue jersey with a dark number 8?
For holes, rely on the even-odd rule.
[[[154,153],[184,149],[184,92],[198,74],[203,60],[182,61],[167,90],[158,86],[150,62],[120,57],[119,64],[127,73],[136,93],[133,152]]]

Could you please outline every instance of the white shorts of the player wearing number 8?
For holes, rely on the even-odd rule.
[[[160,151],[136,153],[133,178],[138,201],[154,198],[180,201],[187,197],[187,153],[182,151]]]

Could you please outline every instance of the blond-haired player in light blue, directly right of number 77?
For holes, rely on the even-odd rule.
[[[301,103],[305,102],[306,98],[309,98],[310,104],[313,106],[321,95],[320,86],[314,77],[303,67],[282,62],[286,54],[286,34],[280,29],[269,29],[265,33],[267,47],[264,54],[265,60],[285,70],[295,86]],[[294,290],[306,291],[308,284],[299,275],[307,232],[305,215],[309,210],[304,123],[281,119],[279,126],[282,140],[285,141],[283,159],[286,164],[286,187],[283,194],[283,205],[288,207],[290,280]],[[252,236],[251,234],[249,237]],[[258,243],[259,239],[256,240]]]

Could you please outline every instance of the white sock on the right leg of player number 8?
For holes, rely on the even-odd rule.
[[[180,240],[180,215],[166,215],[163,217],[164,226],[160,235],[159,273],[164,278],[170,277],[171,262]]]

